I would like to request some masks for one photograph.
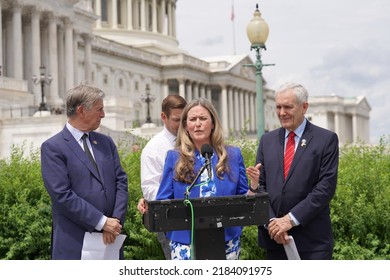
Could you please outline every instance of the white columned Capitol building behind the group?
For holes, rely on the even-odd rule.
[[[114,140],[160,131],[161,101],[168,94],[211,100],[226,136],[245,129],[255,138],[256,74],[243,67],[252,58],[198,58],[180,49],[180,1],[0,0],[0,158],[12,145],[38,148],[60,131],[67,121],[66,92],[81,83],[105,92],[99,130]],[[274,89],[263,85],[269,131],[279,120]],[[309,103],[309,120],[335,131],[341,144],[369,143],[371,108],[364,96],[329,93]]]

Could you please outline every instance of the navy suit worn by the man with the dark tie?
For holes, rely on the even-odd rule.
[[[112,139],[90,132],[99,172],[65,127],[41,146],[42,177],[52,200],[52,259],[80,259],[85,232],[102,215],[120,219],[128,205],[127,175]]]

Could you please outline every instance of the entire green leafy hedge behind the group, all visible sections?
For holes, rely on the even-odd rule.
[[[239,146],[246,165],[255,163],[257,142],[245,135],[229,139]],[[140,141],[142,148],[145,141]],[[338,185],[331,202],[335,235],[334,259],[390,259],[390,152],[389,139],[378,146],[340,149]],[[140,188],[140,151],[118,145],[129,177],[129,206],[124,225],[125,258],[164,259],[156,235],[147,231],[137,210]],[[0,160],[0,259],[50,258],[51,203],[43,186],[39,152],[12,147],[11,157]],[[244,228],[241,259],[264,259],[257,246],[257,227]]]

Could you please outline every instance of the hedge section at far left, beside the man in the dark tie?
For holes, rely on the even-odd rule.
[[[0,258],[49,259],[50,198],[43,187],[36,151],[24,156],[12,147],[9,161],[0,161]]]

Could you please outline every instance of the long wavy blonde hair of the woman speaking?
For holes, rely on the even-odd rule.
[[[196,106],[202,106],[203,108],[206,108],[209,111],[211,121],[214,124],[214,129],[211,130],[210,134],[210,145],[214,148],[218,155],[216,175],[219,178],[222,178],[224,172],[229,172],[223,129],[218,113],[209,100],[204,98],[194,99],[189,102],[186,107],[184,107],[183,113],[181,115],[179,130],[177,133],[175,147],[179,151],[180,155],[175,166],[175,179],[180,182],[191,183],[196,176],[194,172],[196,147],[187,133],[188,112]]]

